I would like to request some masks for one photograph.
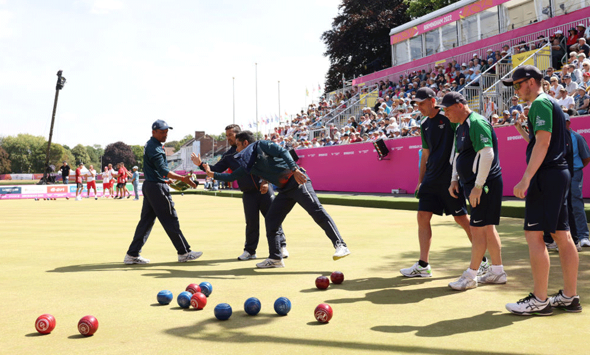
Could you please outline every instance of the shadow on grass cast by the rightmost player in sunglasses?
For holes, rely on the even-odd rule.
[[[485,331],[501,327],[512,326],[517,321],[523,321],[532,317],[504,313],[500,311],[487,311],[473,317],[443,320],[427,326],[376,326],[371,330],[384,333],[407,333],[416,331],[418,337],[447,337],[454,334],[470,333],[472,331]]]

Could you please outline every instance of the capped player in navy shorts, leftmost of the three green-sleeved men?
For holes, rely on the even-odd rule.
[[[446,215],[453,215],[455,222],[463,227],[470,240],[471,234],[465,200],[455,199],[448,193],[448,182],[451,181],[453,170],[453,126],[436,106],[435,94],[430,88],[419,88],[414,101],[418,103],[418,110],[424,115],[420,122],[422,156],[415,190],[415,195],[419,199],[417,219],[420,258],[414,265],[399,272],[407,277],[431,277],[432,269],[428,264],[428,254],[432,239],[432,214],[442,215],[444,212]],[[481,273],[487,269],[487,265],[487,261],[482,262]]]

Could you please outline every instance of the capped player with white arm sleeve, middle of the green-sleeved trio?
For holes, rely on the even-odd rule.
[[[440,106],[445,107],[448,119],[458,124],[448,192],[454,198],[467,198],[471,205],[471,263],[457,281],[448,285],[454,290],[468,290],[476,288],[478,282],[505,284],[500,236],[496,231],[496,225],[500,224],[503,190],[496,133],[485,117],[469,109],[460,93],[446,94]],[[459,194],[459,185],[464,195]],[[477,276],[486,249],[490,251],[491,267]]]

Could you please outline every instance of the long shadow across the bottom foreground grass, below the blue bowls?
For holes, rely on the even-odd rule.
[[[288,316],[287,316],[288,317]],[[523,317],[525,319],[525,317]],[[164,330],[164,333],[171,336],[188,338],[192,340],[201,341],[212,341],[216,343],[235,343],[244,344],[244,346],[251,346],[253,343],[268,343],[280,346],[280,344],[296,345],[299,347],[300,352],[313,351],[314,353],[322,353],[323,349],[346,349],[346,350],[358,350],[360,353],[366,351],[379,351],[388,353],[407,353],[407,354],[440,354],[440,355],[455,355],[458,353],[466,355],[520,355],[521,353],[516,352],[503,352],[503,351],[486,351],[482,349],[466,350],[466,349],[444,349],[437,347],[428,346],[405,346],[396,344],[377,344],[377,343],[365,343],[360,341],[344,341],[334,340],[333,337],[326,338],[318,336],[317,339],[311,338],[296,338],[281,335],[261,335],[261,334],[250,334],[246,330],[254,329],[256,326],[262,324],[268,324],[273,321],[273,317],[270,314],[257,315],[255,317],[241,318],[234,317],[232,315],[232,321],[220,322],[215,318],[209,318],[202,320],[191,326],[183,326],[170,328]],[[512,321],[517,321],[515,317]],[[457,320],[463,321],[463,320]],[[506,323],[506,321],[503,321]],[[328,323],[329,324],[329,323]],[[307,323],[308,326],[316,327],[321,324],[316,321],[310,321]],[[319,329],[319,328],[318,328]],[[409,330],[408,330],[409,331]],[[309,348],[309,349],[308,349]]]

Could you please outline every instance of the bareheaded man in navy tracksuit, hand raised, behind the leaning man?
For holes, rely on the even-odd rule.
[[[240,163],[235,160],[235,134],[240,132],[240,126],[237,124],[230,124],[225,127],[225,137],[231,148],[224,155],[221,156],[219,162],[215,165],[209,165],[212,172],[222,173],[227,169],[237,170]],[[192,153],[193,163],[205,171],[201,157]],[[273,187],[266,181],[261,180],[260,177],[251,174],[246,174],[238,177],[238,187],[242,191],[242,203],[244,205],[244,216],[246,218],[246,242],[244,244],[244,253],[238,257],[240,260],[248,260],[256,258],[256,248],[258,247],[258,238],[260,237],[260,217],[259,213],[266,216],[268,208],[274,199]],[[285,235],[283,228],[278,226],[277,237],[281,244],[281,254],[283,258],[289,257],[287,251],[287,244],[285,242]]]

